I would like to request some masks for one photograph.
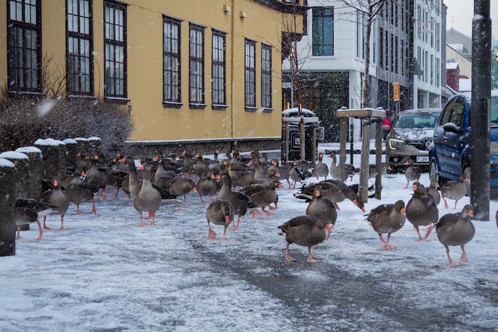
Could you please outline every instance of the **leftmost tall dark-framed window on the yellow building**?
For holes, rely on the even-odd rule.
[[[8,89],[41,92],[41,1],[9,0],[7,5]]]

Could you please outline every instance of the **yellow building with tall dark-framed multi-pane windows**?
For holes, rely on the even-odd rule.
[[[279,147],[293,2],[1,1],[0,85],[127,106],[131,145]]]

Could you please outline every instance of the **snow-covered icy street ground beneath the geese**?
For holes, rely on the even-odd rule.
[[[420,182],[429,185],[427,173]],[[367,212],[411,197],[403,174],[384,174],[382,185]],[[493,221],[474,221],[469,261],[458,266],[435,232],[415,241],[408,221],[391,236],[397,249],[383,249],[365,214],[343,202],[330,239],[312,249],[323,262],[312,264],[295,244],[297,261],[284,259],[277,226],[307,207],[284,187],[274,216],[248,214],[225,242],[217,225],[217,239],[207,238],[207,206],[195,193],[183,209],[162,206],[155,227],[136,227],[121,194],[99,201],[97,215],[85,204],[71,216],[71,206],[68,230],[47,230],[41,241],[32,225],[16,254],[0,257],[0,331],[498,331],[498,201]],[[440,217],[468,203],[441,202]],[[60,218],[47,223],[58,228]],[[458,261],[461,250],[450,254]]]

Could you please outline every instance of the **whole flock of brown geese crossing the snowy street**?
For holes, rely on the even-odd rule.
[[[131,156],[118,154],[110,162],[105,163],[97,156],[82,156],[75,169],[59,171],[58,176],[51,181],[44,180],[44,192],[40,200],[17,199],[15,222],[17,225],[16,239],[20,238],[20,228],[23,224],[36,222],[39,228],[37,240],[42,238],[43,229],[50,229],[46,225],[46,217],[58,215],[61,218],[61,227],[64,228],[64,216],[71,203],[79,205],[91,201],[92,213],[96,213],[96,196],[101,195],[107,200],[106,188],[116,190],[115,197],[120,190],[129,198],[140,216],[139,227],[145,226],[143,220],[149,218],[149,225],[155,225],[155,212],[162,204],[186,205],[187,194],[197,192],[201,203],[209,203],[206,211],[208,223],[208,238],[216,238],[216,232],[211,223],[222,225],[225,240],[227,229],[237,229],[241,217],[248,212],[252,218],[257,215],[272,215],[277,208],[278,194],[276,189],[282,188],[281,181],[286,181],[289,189],[294,189],[297,182],[315,177],[318,182],[306,182],[301,190],[295,194],[298,199],[305,199],[308,203],[306,215],[291,218],[278,226],[285,234],[285,259],[294,261],[289,255],[289,245],[295,243],[308,247],[307,261],[319,262],[311,255],[312,246],[329,238],[332,227],[337,220],[337,203],[350,200],[359,209],[365,212],[363,201],[358,197],[354,186],[348,186],[345,181],[352,174],[358,172],[352,165],[346,165],[345,174],[339,174],[335,154],[330,168],[323,162],[323,154],[319,153],[318,163],[313,167],[306,161],[297,160],[289,165],[280,165],[278,160],[268,161],[264,154],[251,151],[248,156],[242,156],[238,151],[226,153],[227,159],[218,160],[216,151],[213,160],[204,158],[200,153],[192,156],[183,151],[181,156],[169,153],[167,156],[156,151],[155,158],[143,158],[140,166],[136,167]],[[447,181],[439,191],[438,184],[433,181],[429,188],[425,188],[418,181],[421,170],[414,166],[411,160],[407,161],[405,176],[407,185],[412,183],[413,195],[405,203],[399,200],[393,204],[381,204],[367,215],[368,223],[379,235],[384,248],[394,249],[389,243],[393,232],[401,229],[406,220],[413,224],[418,233],[418,240],[426,239],[435,228],[438,239],[445,246],[450,264],[455,264],[450,258],[449,246],[460,246],[462,249],[461,261],[467,261],[465,244],[475,234],[475,227],[470,221],[473,217],[473,207],[466,205],[460,213],[446,214],[439,218],[437,205],[442,198],[445,207],[446,200],[457,201],[466,194],[464,175],[458,181]],[[385,163],[383,167],[388,168]],[[330,179],[327,177],[331,175]],[[369,177],[375,177],[375,167],[369,168]],[[324,180],[319,181],[320,178]],[[100,194],[101,193],[101,194]],[[203,196],[210,196],[209,202]],[[213,200],[213,196],[216,198]],[[182,200],[183,198],[183,200]],[[266,208],[268,210],[266,210]],[[143,216],[148,213],[147,216]],[[237,220],[236,220],[237,217]],[[41,222],[43,218],[43,229]],[[228,226],[232,224],[230,228]],[[497,221],[498,224],[498,221]],[[419,227],[428,226],[424,237],[420,235]],[[383,234],[387,234],[386,239]]]

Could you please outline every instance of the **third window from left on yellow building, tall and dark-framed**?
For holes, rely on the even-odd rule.
[[[126,98],[126,7],[104,2],[104,96]]]

